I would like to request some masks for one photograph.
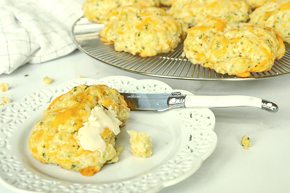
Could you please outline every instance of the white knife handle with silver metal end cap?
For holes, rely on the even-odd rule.
[[[229,96],[197,96],[186,95],[185,107],[208,107],[208,108],[224,108],[224,107],[256,107],[271,113],[278,111],[278,106],[261,98],[242,95]]]

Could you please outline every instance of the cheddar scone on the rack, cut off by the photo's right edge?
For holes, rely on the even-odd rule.
[[[290,0],[270,0],[250,14],[249,23],[273,28],[290,44]]]

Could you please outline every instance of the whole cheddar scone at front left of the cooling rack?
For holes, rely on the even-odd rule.
[[[116,51],[150,57],[176,48],[187,29],[161,8],[131,5],[113,9],[100,35],[102,41],[113,42]]]

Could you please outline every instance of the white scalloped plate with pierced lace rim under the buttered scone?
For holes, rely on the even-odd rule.
[[[173,91],[158,80],[125,76],[80,78],[30,92],[22,101],[1,107],[0,182],[3,185],[21,193],[155,193],[191,176],[216,148],[215,116],[209,109],[131,112],[117,136],[116,145],[124,145],[119,162],[105,165],[92,177],[55,164],[42,164],[28,151],[30,131],[53,99],[79,84],[106,84],[120,92]],[[132,129],[151,135],[151,157],[139,158],[130,152],[126,130]]]

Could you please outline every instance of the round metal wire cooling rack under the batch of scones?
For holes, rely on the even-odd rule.
[[[180,43],[173,52],[158,54],[154,57],[142,58],[126,52],[116,52],[113,44],[100,41],[99,32],[103,27],[103,24],[97,24],[81,17],[72,26],[72,37],[75,44],[79,50],[89,56],[130,72],[190,80],[253,80],[290,73],[290,45],[287,43],[285,56],[276,60],[270,71],[251,72],[249,77],[241,78],[220,74],[198,64],[191,64],[186,57],[182,56],[183,43]]]

